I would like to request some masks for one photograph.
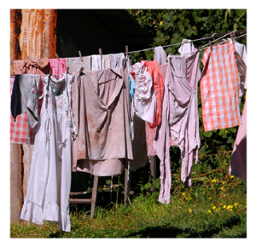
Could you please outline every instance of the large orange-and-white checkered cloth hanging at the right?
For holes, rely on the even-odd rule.
[[[201,106],[205,131],[241,124],[239,74],[232,43],[208,48],[202,57]]]

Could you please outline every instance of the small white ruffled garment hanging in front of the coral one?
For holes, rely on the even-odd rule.
[[[135,75],[136,88],[131,103],[131,116],[137,114],[138,117],[152,124],[156,114],[156,98],[153,80],[147,71],[145,61],[133,65],[132,72]]]

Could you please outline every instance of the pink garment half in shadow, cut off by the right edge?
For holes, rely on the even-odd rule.
[[[247,101],[244,104],[233,153],[230,161],[230,175],[247,180]]]

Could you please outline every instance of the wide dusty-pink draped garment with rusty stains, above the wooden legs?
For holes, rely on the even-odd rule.
[[[119,175],[132,160],[129,129],[131,102],[127,70],[73,72],[73,171]]]

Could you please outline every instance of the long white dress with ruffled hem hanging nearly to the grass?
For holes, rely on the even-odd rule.
[[[44,101],[32,152],[26,200],[20,218],[42,225],[58,222],[70,232],[71,147],[76,126],[71,111],[73,76],[44,78]]]

